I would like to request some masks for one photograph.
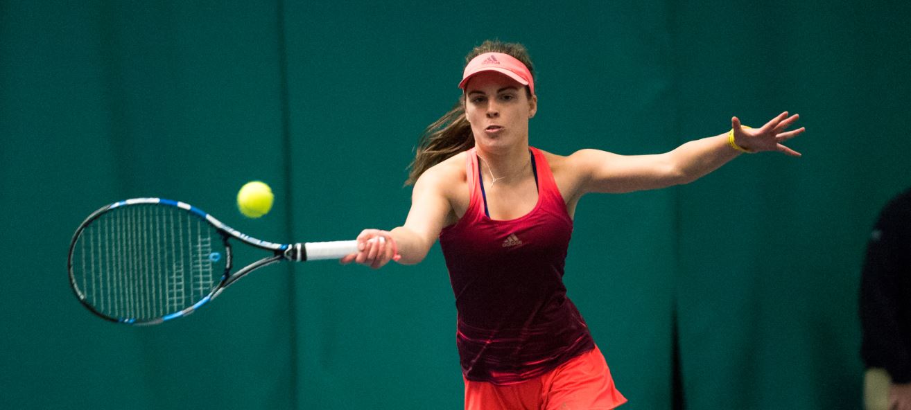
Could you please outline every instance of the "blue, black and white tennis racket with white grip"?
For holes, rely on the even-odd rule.
[[[230,240],[271,255],[231,273]],[[241,234],[200,208],[135,198],[98,209],[69,246],[69,283],[104,319],[157,325],[189,315],[241,277],[277,262],[340,259],[356,241],[273,244]]]

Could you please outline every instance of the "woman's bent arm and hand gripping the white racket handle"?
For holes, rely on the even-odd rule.
[[[342,258],[343,264],[352,262],[374,269],[390,260],[404,265],[415,265],[424,260],[430,247],[452,213],[452,206],[445,196],[443,175],[438,169],[427,170],[415,182],[411,210],[402,226],[392,231],[364,229],[357,236],[358,252]]]

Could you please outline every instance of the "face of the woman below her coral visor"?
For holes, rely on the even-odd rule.
[[[486,71],[466,84],[465,112],[475,144],[488,149],[528,144],[528,118],[537,111],[537,96],[528,98],[525,85]]]

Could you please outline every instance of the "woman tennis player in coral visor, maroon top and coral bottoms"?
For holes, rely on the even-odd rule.
[[[421,262],[440,240],[458,312],[466,409],[609,409],[626,402],[588,326],[567,298],[563,267],[578,201],[686,184],[743,152],[800,155],[782,145],[782,113],[660,155],[529,146],[535,75],[522,45],[487,41],[466,57],[458,104],[418,145],[404,225],[366,229],[343,258],[379,268]]]

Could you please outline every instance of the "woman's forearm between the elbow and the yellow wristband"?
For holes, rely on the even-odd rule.
[[[728,145],[727,133],[690,141],[668,153],[679,175],[679,184],[689,184],[708,175],[740,154]]]

